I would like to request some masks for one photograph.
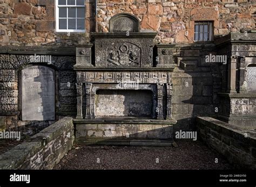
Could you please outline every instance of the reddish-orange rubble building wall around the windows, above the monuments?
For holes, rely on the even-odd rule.
[[[54,0],[0,1],[0,45],[70,45],[89,40],[89,33],[108,32],[109,19],[118,13],[131,13],[140,28],[158,31],[156,42],[192,43],[194,21],[214,21],[214,35],[255,28],[255,1],[246,0],[85,0],[86,33],[55,31]],[[97,19],[95,20],[95,17]],[[97,24],[96,24],[97,21]]]

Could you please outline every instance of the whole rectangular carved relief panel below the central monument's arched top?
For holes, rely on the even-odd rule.
[[[95,39],[96,67],[152,67],[152,40]]]

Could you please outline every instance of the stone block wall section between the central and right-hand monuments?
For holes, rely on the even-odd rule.
[[[197,116],[216,117],[220,112],[222,63],[205,62],[206,55],[217,55],[213,44],[195,44],[181,47],[180,56],[176,57],[178,68],[172,73],[173,83],[173,118],[179,130],[196,130]]]

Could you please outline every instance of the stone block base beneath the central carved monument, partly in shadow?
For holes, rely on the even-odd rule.
[[[172,124],[167,122],[74,120],[76,141],[83,144],[171,146]],[[159,144],[159,145],[158,145]]]

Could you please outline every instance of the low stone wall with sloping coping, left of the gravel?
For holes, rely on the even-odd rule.
[[[73,140],[72,118],[65,117],[0,155],[0,169],[52,169]]]

